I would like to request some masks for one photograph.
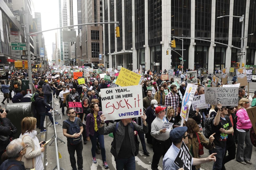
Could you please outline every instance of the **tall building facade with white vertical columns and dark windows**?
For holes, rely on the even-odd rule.
[[[183,36],[184,69],[205,68],[213,73],[215,69],[229,68],[240,62],[240,50],[218,43],[241,47],[242,23],[238,17],[226,15],[244,15],[245,55],[241,61],[254,65],[255,10],[253,0],[103,0],[103,20],[119,21],[120,27],[120,37],[116,38],[117,25],[103,25],[104,64],[107,68],[122,65],[130,70],[139,65],[147,70],[177,69],[181,65],[182,40],[175,38],[173,49],[180,55],[170,50],[170,43],[173,36]]]

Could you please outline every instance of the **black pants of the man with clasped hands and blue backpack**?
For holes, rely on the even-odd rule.
[[[70,159],[72,169],[76,169],[75,151],[76,151],[76,156],[77,156],[78,170],[83,169],[83,156],[82,156],[83,143],[82,143],[82,140],[81,140],[81,142],[79,142],[79,144],[76,144],[76,145],[71,145],[69,143],[69,141],[67,143],[68,143],[69,159]]]

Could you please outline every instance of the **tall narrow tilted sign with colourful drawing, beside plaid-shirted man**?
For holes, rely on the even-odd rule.
[[[185,94],[182,98],[181,118],[185,119],[186,121],[188,119],[189,109],[190,109],[191,103],[193,101],[193,97],[195,95],[196,89],[197,89],[197,85],[188,84]]]

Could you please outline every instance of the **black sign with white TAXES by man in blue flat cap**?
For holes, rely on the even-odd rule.
[[[191,170],[192,169],[192,156],[185,145],[184,141],[181,143],[180,151],[177,157],[174,160],[174,163],[179,168],[184,168],[184,170]]]

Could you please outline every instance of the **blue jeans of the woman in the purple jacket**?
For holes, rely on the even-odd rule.
[[[99,141],[99,146],[101,147],[101,156],[102,156],[102,161],[106,161],[106,151],[105,151],[105,147],[104,147],[104,136],[100,135],[99,132],[95,132],[94,131],[94,135],[90,135],[90,139],[92,142],[92,157],[96,156],[95,150],[97,147],[97,138]]]

